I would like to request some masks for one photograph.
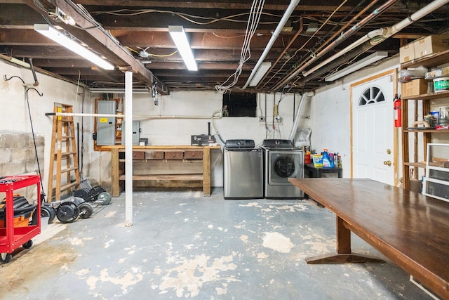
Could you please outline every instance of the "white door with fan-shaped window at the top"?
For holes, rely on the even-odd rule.
[[[351,89],[353,178],[394,185],[393,74]]]

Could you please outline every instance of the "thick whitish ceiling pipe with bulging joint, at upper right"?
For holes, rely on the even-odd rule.
[[[393,34],[396,34],[397,32],[403,30],[408,25],[412,24],[413,22],[416,22],[417,20],[420,20],[420,18],[424,17],[425,15],[428,15],[432,11],[435,11],[436,9],[440,8],[441,6],[448,4],[449,0],[435,0],[431,2],[430,4],[427,4],[427,6],[424,6],[419,11],[416,11],[412,15],[410,15],[409,18],[406,18],[402,20],[401,22],[396,23],[396,25],[393,25],[391,27],[385,27],[380,28],[377,30],[373,30],[371,32],[368,32],[365,36],[361,37],[357,41],[354,41],[351,45],[344,48],[342,51],[336,53],[335,55],[331,56],[330,58],[323,61],[323,63],[320,63],[319,65],[316,65],[316,67],[313,67],[311,70],[307,72],[302,72],[302,75],[304,77],[307,77],[309,74],[315,72],[316,70],[319,70],[321,67],[328,65],[328,63],[332,62],[336,58],[340,58],[340,56],[343,56],[348,51],[351,51],[352,49],[361,46],[361,44],[365,43],[366,41],[370,41],[373,46],[380,44],[385,39],[388,39]]]

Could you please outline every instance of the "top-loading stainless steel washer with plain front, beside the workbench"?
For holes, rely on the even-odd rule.
[[[225,199],[264,197],[262,150],[253,140],[227,140],[223,150]]]

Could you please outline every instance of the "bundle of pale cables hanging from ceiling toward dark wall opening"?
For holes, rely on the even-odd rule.
[[[229,91],[229,89],[231,89],[233,86],[237,84],[243,69],[243,64],[250,59],[251,57],[250,41],[251,39],[253,39],[255,30],[257,30],[257,25],[259,24],[260,21],[260,15],[262,13],[264,3],[265,3],[264,0],[253,1],[253,5],[251,6],[250,11],[250,18],[248,20],[248,24],[246,25],[245,39],[243,41],[243,46],[241,47],[239,66],[237,67],[236,72],[230,75],[225,82],[223,82],[222,84],[217,84],[215,86],[215,89],[219,93],[226,93],[227,91]]]

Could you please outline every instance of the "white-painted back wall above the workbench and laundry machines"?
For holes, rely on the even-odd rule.
[[[95,97],[95,95],[93,95]],[[149,145],[190,145],[191,136],[220,133],[223,141],[234,138],[247,138],[261,144],[264,138],[288,138],[293,126],[294,114],[300,102],[300,95],[260,94],[257,98],[257,117],[223,117],[210,119],[214,112],[222,110],[222,94],[215,91],[174,91],[167,96],[159,95],[158,105],[154,105],[151,94],[133,94],[133,115],[139,116],[141,138],[148,138]],[[279,103],[279,100],[281,102]],[[281,122],[273,128],[274,103],[279,103]],[[266,104],[266,105],[265,105]],[[265,109],[267,107],[267,109]],[[220,115],[220,114],[217,114]],[[259,121],[265,117],[265,122]],[[162,117],[162,118],[160,118]],[[187,118],[186,118],[187,117]],[[159,119],[160,118],[160,119]],[[222,186],[222,150],[224,143],[217,137],[221,150],[211,152],[211,185]],[[97,174],[102,181],[110,178],[107,153],[103,153],[102,165]],[[91,172],[91,175],[93,173]]]

